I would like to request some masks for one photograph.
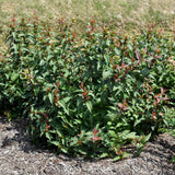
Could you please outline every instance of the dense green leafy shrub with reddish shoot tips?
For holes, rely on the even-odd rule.
[[[0,56],[1,110],[30,119],[33,140],[58,152],[117,161],[133,143],[140,154],[174,107],[174,37],[152,25],[118,35],[92,20],[78,40],[63,19],[57,25],[13,19]]]

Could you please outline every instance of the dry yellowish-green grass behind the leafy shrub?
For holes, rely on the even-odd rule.
[[[175,30],[174,0],[0,0],[0,49],[11,19],[32,18],[34,11],[52,28],[59,18],[75,19],[72,30],[78,35],[91,19],[127,33],[138,33],[148,22],[168,32]]]

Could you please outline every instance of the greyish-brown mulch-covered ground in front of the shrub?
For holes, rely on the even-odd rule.
[[[0,116],[0,175],[175,175],[175,138],[161,135],[147,143],[139,158],[119,162],[88,161],[56,155],[30,143],[25,120]],[[133,148],[127,148],[135,152]]]

